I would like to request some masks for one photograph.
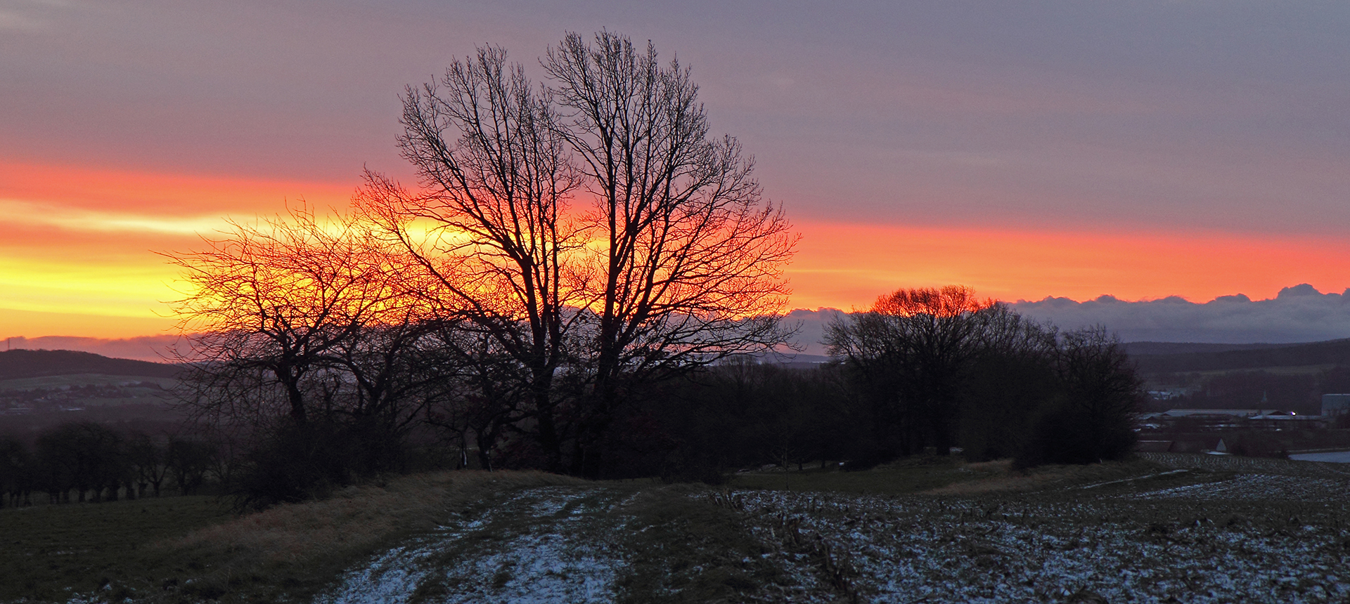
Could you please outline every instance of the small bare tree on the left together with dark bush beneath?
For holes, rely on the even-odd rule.
[[[369,222],[308,208],[205,243],[169,255],[188,283],[180,399],[207,433],[247,440],[220,466],[242,502],[402,469],[440,375],[420,365],[429,315],[408,255]]]

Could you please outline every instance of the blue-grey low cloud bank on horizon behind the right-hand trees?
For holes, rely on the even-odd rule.
[[[1287,344],[1350,337],[1350,290],[1323,294],[1307,283],[1260,301],[1242,294],[1204,303],[1180,297],[1126,302],[1103,295],[1087,302],[1045,298],[1011,306],[1023,317],[1062,329],[1106,325],[1127,342]],[[837,309],[799,309],[787,322],[801,324],[796,342],[807,355],[825,355],[825,325],[838,314]]]

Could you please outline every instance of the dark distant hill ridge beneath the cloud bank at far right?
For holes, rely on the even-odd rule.
[[[1168,349],[1179,352],[1141,352]],[[1126,344],[1126,352],[1143,373],[1334,365],[1350,364],[1350,338],[1305,344],[1131,342]]]

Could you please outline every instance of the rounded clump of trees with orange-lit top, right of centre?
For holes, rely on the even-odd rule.
[[[879,458],[960,444],[980,458],[1081,462],[1134,444],[1142,382],[1103,328],[1060,332],[949,286],[884,295],[826,342],[869,402]]]

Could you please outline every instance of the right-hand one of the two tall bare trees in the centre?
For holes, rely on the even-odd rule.
[[[593,473],[586,448],[626,388],[784,342],[782,268],[796,236],[763,201],[740,143],[709,136],[687,67],[608,31],[593,43],[568,34],[544,67],[597,198],[591,395],[571,468]]]

